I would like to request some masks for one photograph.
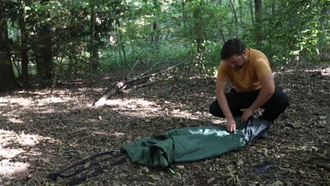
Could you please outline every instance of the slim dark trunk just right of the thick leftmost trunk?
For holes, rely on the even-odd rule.
[[[29,65],[29,56],[27,54],[27,30],[25,28],[25,13],[24,13],[24,2],[20,1],[19,7],[19,18],[18,18],[18,26],[20,27],[20,54],[22,57],[22,78],[23,78],[23,87],[30,87],[29,84],[29,73],[28,73],[28,65]]]

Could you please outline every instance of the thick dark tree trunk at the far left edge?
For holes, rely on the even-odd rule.
[[[11,44],[4,11],[5,5],[0,1],[0,92],[11,91],[18,87],[11,65]]]

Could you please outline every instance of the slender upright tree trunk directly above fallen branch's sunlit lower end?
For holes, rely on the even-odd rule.
[[[94,73],[94,35],[95,35],[95,1],[91,0],[90,15],[90,84],[92,84],[92,74]]]

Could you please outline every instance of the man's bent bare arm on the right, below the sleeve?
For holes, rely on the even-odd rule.
[[[264,77],[259,79],[259,82],[261,89],[258,97],[255,99],[252,105],[244,111],[242,115],[242,123],[245,123],[247,119],[252,115],[252,113],[264,105],[275,92],[274,77],[271,73],[264,75]]]

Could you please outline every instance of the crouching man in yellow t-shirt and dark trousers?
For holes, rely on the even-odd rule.
[[[262,118],[273,123],[288,106],[288,97],[274,78],[267,57],[258,50],[245,48],[239,39],[230,39],[221,49],[221,63],[216,77],[216,101],[209,107],[213,116],[226,118],[226,130],[236,130],[234,117],[245,123],[258,108]],[[224,93],[228,80],[235,89]],[[245,111],[242,111],[245,109]]]

